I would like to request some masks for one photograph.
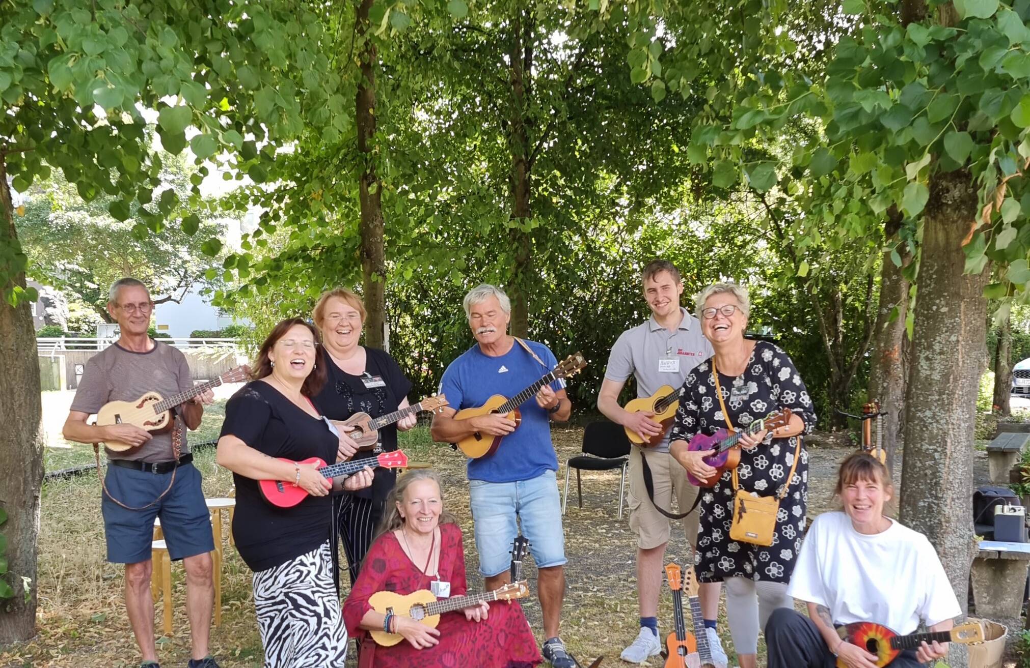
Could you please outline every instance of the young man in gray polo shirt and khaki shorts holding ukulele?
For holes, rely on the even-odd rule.
[[[644,268],[644,298],[651,308],[647,322],[622,332],[608,358],[608,368],[597,396],[597,408],[617,422],[643,436],[661,432],[653,413],[629,413],[618,402],[619,393],[629,377],[637,379],[637,396],[654,394],[662,385],[679,388],[694,366],[712,356],[712,346],[701,335],[697,318],[680,306],[683,281],[673,262],[656,259]],[[644,485],[644,463],[654,481],[654,503]],[[668,511],[676,494],[680,513],[693,506],[696,487],[687,482],[686,470],[668,454],[668,433],[654,446],[633,446],[629,453],[629,527],[637,534],[637,587],[641,631],[622,652],[622,659],[641,663],[661,652],[658,635],[658,596],[661,592],[665,544],[668,542],[668,519],[655,504]],[[697,514],[681,520],[687,541],[697,542]],[[688,562],[687,565],[689,565]],[[716,663],[726,665],[726,655],[715,632],[719,608],[718,583],[700,586],[701,612]]]

